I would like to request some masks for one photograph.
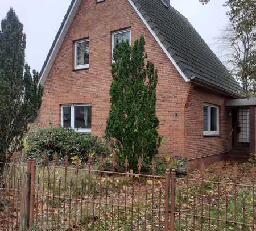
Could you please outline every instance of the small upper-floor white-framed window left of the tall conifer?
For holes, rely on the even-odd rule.
[[[89,39],[75,41],[75,70],[89,68]]]

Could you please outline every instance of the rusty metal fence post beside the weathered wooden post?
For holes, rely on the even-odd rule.
[[[36,173],[36,160],[31,159],[30,169],[28,169],[28,173],[31,173],[31,185],[30,185],[30,220],[29,220],[29,228],[32,228],[34,222],[34,206],[35,206],[35,173]]]

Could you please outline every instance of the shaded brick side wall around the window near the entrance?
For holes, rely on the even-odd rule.
[[[203,135],[203,104],[220,107],[220,135]],[[188,158],[199,158],[228,152],[232,139],[228,134],[232,129],[232,119],[228,118],[225,98],[200,87],[191,87],[185,105],[185,154]]]

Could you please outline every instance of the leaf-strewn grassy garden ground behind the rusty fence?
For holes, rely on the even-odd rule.
[[[251,167],[225,161],[177,176],[175,229],[253,230]],[[163,230],[164,177],[37,166],[36,178],[39,230]],[[17,194],[1,190],[0,196],[0,230],[15,229]]]

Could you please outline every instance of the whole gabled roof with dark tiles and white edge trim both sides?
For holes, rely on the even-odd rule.
[[[127,1],[185,81],[210,87],[236,98],[245,97],[241,86],[187,18],[167,5],[166,0]],[[81,0],[72,0],[40,72],[40,83],[44,83],[80,3]]]

